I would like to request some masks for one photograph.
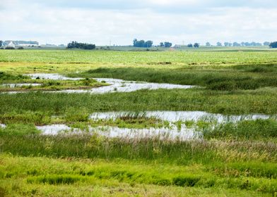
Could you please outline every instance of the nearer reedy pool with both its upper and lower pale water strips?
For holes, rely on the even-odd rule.
[[[134,117],[133,117],[134,116]],[[155,119],[169,122],[166,127],[160,128],[145,128],[145,129],[130,129],[122,127],[111,127],[111,126],[98,126],[90,127],[87,129],[78,129],[69,127],[68,125],[44,125],[37,126],[37,129],[45,135],[57,135],[57,134],[98,134],[100,136],[106,136],[110,138],[153,138],[159,139],[179,139],[181,141],[189,139],[201,139],[201,132],[197,131],[195,127],[187,127],[185,124],[177,127],[177,121],[194,121],[203,120],[206,122],[237,122],[241,120],[257,120],[257,119],[268,119],[269,115],[220,115],[213,113],[206,113],[202,111],[146,111],[143,113],[131,113],[131,112],[107,112],[107,113],[93,113],[90,115],[91,120],[115,120],[119,117],[155,117]],[[6,127],[0,125],[0,127]]]

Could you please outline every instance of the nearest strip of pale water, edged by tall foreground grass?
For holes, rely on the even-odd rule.
[[[129,129],[119,127],[89,127],[89,131],[82,131],[81,129],[70,128],[67,125],[45,125],[37,127],[42,134],[45,135],[57,135],[57,134],[99,134],[100,136],[106,136],[109,138],[153,138],[159,139],[179,139],[181,141],[189,139],[198,139],[201,134],[195,132],[194,129],[188,129],[185,125],[182,125],[178,129],[175,125],[171,125],[169,128],[149,128],[149,129]]]

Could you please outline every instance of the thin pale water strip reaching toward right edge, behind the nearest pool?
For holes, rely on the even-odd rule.
[[[93,113],[90,115],[91,120],[109,120],[116,119],[117,117],[131,115],[130,112],[106,112],[106,113]],[[133,113],[134,114],[134,113]],[[269,119],[269,115],[221,115],[215,113],[206,113],[203,111],[146,111],[141,112],[145,117],[155,117],[159,120],[177,122],[177,121],[216,121],[216,122],[237,122],[240,120],[257,120]]]

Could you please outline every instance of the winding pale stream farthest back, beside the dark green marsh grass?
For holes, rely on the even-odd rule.
[[[49,80],[82,80],[83,78],[71,78],[64,77],[59,74],[30,74],[28,75],[32,79],[39,77],[40,79]],[[125,80],[117,80],[110,78],[95,78],[98,82],[106,82],[110,86],[96,87],[93,89],[69,89],[54,92],[64,92],[64,93],[90,93],[90,94],[105,94],[110,92],[130,92],[139,89],[190,89],[194,86],[178,85],[178,84],[158,84],[158,83],[148,83],[148,82],[133,82]]]

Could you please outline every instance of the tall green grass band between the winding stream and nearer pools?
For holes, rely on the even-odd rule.
[[[206,91],[204,89],[159,89],[113,94],[0,94],[0,114],[26,111],[63,115],[86,108],[95,111],[204,110],[223,114],[276,114],[275,89],[257,91]]]

